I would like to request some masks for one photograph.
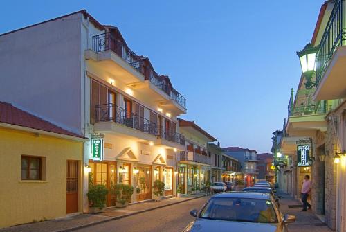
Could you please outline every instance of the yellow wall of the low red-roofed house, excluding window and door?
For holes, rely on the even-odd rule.
[[[0,127],[0,148],[0,228],[66,215],[66,160],[82,161],[83,143]],[[22,154],[46,157],[45,181],[21,181]]]

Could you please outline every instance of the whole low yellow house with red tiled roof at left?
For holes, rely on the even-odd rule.
[[[0,102],[0,228],[82,212],[84,141]]]

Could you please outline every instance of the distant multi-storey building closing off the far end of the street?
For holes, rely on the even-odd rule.
[[[241,163],[241,171],[244,173],[245,186],[253,186],[257,179],[257,151],[248,148],[228,147],[223,148],[226,155],[235,157]]]

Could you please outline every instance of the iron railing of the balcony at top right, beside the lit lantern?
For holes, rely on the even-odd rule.
[[[346,28],[343,25],[343,5],[344,0],[335,1],[325,32],[322,35],[316,57],[316,84],[320,83],[336,48],[345,45]]]

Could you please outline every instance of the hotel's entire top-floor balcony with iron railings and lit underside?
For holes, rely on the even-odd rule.
[[[181,108],[181,114],[186,113],[186,99],[165,80],[165,76],[158,75],[151,64],[148,64],[147,57],[136,55],[116,37],[113,37],[112,33],[93,36],[92,52],[86,52],[86,59],[103,64],[102,68],[110,70],[113,75],[121,77],[125,84],[129,84],[129,86],[142,91],[151,98],[155,98],[154,100],[161,100],[163,102],[162,105],[176,104],[175,107]],[[122,71],[127,71],[127,73],[136,76],[136,78],[131,78],[131,76],[121,73],[119,66],[122,67]],[[90,67],[93,69],[92,64]],[[91,72],[93,71],[91,70]],[[120,76],[120,74],[122,75]],[[147,80],[154,87],[151,87],[149,83],[143,82],[144,80]],[[153,91],[156,94],[152,93]]]

